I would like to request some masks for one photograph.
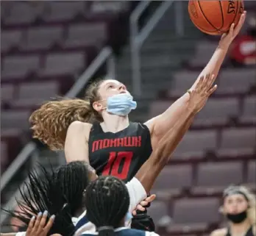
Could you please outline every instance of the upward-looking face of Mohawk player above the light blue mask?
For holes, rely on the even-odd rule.
[[[115,79],[107,79],[99,86],[98,93],[102,100],[107,100],[110,96],[129,92],[127,91],[127,87],[121,82]]]

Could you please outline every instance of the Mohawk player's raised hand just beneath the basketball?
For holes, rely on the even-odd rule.
[[[232,43],[232,40],[234,40],[234,38],[238,35],[238,33],[240,32],[244,21],[246,19],[246,11],[243,11],[243,14],[241,15],[239,22],[237,24],[237,26],[235,26],[235,24],[233,23],[230,26],[230,30],[228,33],[225,33],[221,36],[221,40],[219,41],[218,45],[223,48],[223,49],[227,49],[230,46],[230,43]]]

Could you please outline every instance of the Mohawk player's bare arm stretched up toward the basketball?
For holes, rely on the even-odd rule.
[[[228,34],[222,35],[221,40],[218,43],[218,47],[213,54],[213,57],[211,57],[210,61],[207,63],[202,73],[196,79],[196,82],[193,83],[191,90],[193,90],[196,87],[201,76],[205,76],[206,74],[214,74],[216,78],[216,76],[218,75],[218,71],[220,70],[224,58],[227,54],[227,50],[229,49],[229,46],[232,43],[232,40],[235,38],[236,35],[238,35],[238,32],[240,32],[241,27],[243,26],[245,16],[246,12],[243,12],[240,21],[238,25],[235,27],[235,29],[234,24],[232,24],[232,26],[230,27],[230,32]],[[154,117],[146,122],[146,126],[149,127],[149,130],[152,135],[153,149],[158,146],[159,140],[163,137],[163,135],[166,134],[166,132],[169,129],[171,129],[174,126],[177,119],[179,119],[180,116],[184,114],[185,110],[188,107],[188,101],[189,94],[185,93],[182,97],[177,99],[177,101],[175,101],[174,104],[171,104],[171,107],[168,107],[168,109],[161,115],[158,115],[157,117]],[[193,117],[191,117],[187,121],[187,124],[183,127],[181,131],[183,134],[188,130],[192,121]]]

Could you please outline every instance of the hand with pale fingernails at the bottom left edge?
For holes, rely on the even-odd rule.
[[[37,217],[33,216],[29,221],[28,228],[26,229],[26,236],[46,236],[54,223],[54,215],[51,215],[46,224],[47,216],[48,212],[46,211],[43,212],[43,215],[40,212]]]

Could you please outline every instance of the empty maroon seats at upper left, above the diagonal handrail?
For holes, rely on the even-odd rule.
[[[121,24],[115,21],[118,16],[129,10],[129,3],[121,1],[1,4],[1,155],[13,160],[8,156],[20,150],[20,134],[26,136],[32,110],[68,90],[110,43],[113,29]],[[10,151],[10,142],[18,151]],[[1,173],[10,162],[4,163]]]

